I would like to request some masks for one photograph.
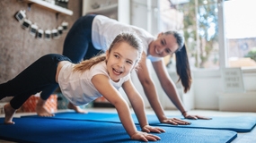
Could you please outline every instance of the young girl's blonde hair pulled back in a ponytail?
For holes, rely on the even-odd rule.
[[[142,52],[143,52],[143,46],[142,41],[140,38],[137,37],[135,33],[131,32],[123,32],[120,33],[111,43],[109,48],[109,53],[114,47],[118,47],[120,43],[126,42],[129,46],[134,47],[137,49],[138,57],[137,62],[140,60]],[[84,60],[81,63],[75,64],[74,71],[86,71],[93,67],[93,65],[100,63],[102,61],[106,60],[106,54],[102,55],[96,55],[92,57],[91,59]]]

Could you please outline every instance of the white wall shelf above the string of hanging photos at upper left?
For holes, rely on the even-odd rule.
[[[60,7],[56,4],[49,4],[48,2],[45,2],[45,1],[42,1],[42,0],[23,0],[23,2],[28,3],[28,4],[37,4],[38,6],[40,6],[42,8],[45,8],[49,11],[52,11],[54,13],[62,13],[62,14],[65,14],[65,15],[73,15],[73,12],[66,9],[66,8]]]

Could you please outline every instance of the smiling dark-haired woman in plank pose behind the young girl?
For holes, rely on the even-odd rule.
[[[177,31],[167,31],[159,33],[154,38],[145,29],[127,25],[119,21],[115,21],[102,15],[85,15],[75,21],[73,27],[66,35],[63,55],[69,57],[74,63],[78,63],[83,59],[91,58],[100,51],[105,52],[109,47],[109,41],[115,38],[120,30],[135,31],[143,43],[143,56],[140,61],[140,68],[137,70],[137,76],[140,80],[146,97],[152,106],[154,113],[160,122],[171,124],[189,124],[176,118],[167,118],[163,112],[159,98],[154,87],[154,81],[151,79],[146,59],[153,64],[154,71],[160,80],[161,86],[166,95],[172,100],[172,103],[181,111],[185,118],[190,119],[210,119],[199,115],[189,114],[178,95],[174,82],[172,81],[163,62],[166,55],[176,55],[176,70],[180,77],[184,92],[190,90],[191,75],[190,64],[184,39]],[[54,91],[55,87],[51,90]],[[45,93],[47,94],[47,93]],[[74,108],[76,112],[80,112]]]

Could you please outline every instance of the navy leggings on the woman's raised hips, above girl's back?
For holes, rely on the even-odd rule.
[[[90,59],[101,52],[92,43],[92,25],[95,16],[88,14],[79,18],[66,35],[63,55],[66,55],[73,63]]]

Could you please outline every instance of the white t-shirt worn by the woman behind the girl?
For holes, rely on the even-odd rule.
[[[121,32],[127,31],[137,33],[137,36],[142,40],[143,51],[147,55],[148,46],[154,40],[154,37],[150,33],[148,33],[145,29],[121,23],[103,15],[96,15],[93,19],[93,46],[98,50],[107,51],[114,38],[116,38]],[[154,57],[151,55],[147,56],[147,58],[152,62],[162,59],[162,57]]]

